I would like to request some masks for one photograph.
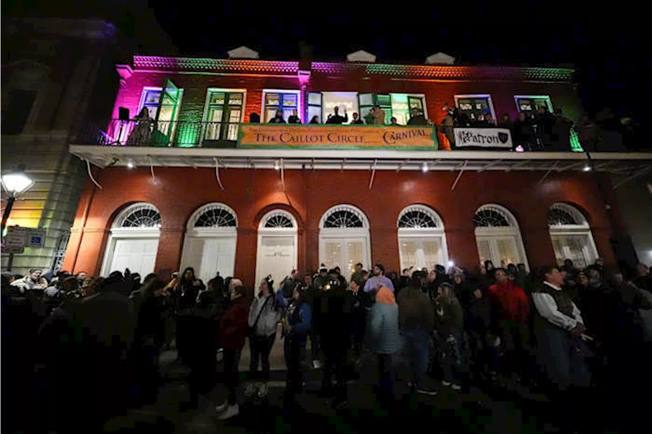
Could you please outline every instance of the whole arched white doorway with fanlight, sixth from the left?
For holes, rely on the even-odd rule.
[[[480,262],[492,261],[494,267],[524,263],[527,257],[516,218],[500,205],[482,205],[473,216],[475,241]]]

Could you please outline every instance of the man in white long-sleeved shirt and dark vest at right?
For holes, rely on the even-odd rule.
[[[575,351],[585,332],[580,310],[561,289],[563,275],[557,267],[543,270],[544,282],[532,293],[537,309],[537,359],[557,390],[588,386],[591,376],[584,357]]]

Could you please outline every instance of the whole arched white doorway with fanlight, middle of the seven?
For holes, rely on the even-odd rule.
[[[357,263],[370,267],[369,220],[353,205],[331,207],[319,221],[319,263],[350,275]]]

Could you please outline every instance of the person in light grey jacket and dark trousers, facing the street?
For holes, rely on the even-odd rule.
[[[274,302],[273,287],[274,281],[269,276],[260,282],[260,292],[252,300],[248,316],[249,349],[251,351],[249,371],[262,381],[269,381],[269,353],[272,351],[274,340],[276,340],[276,325],[281,316],[281,310]],[[256,375],[259,361],[263,370],[260,375]],[[253,385],[250,384],[250,386]],[[253,390],[248,390],[246,395],[250,395],[252,392]],[[265,383],[259,386],[258,394],[259,396],[267,395]]]

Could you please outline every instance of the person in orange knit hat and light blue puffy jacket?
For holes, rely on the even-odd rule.
[[[383,285],[378,289],[370,315],[371,348],[378,357],[378,395],[381,401],[387,402],[393,398],[394,366],[402,347],[398,330],[398,304],[388,287]]]

